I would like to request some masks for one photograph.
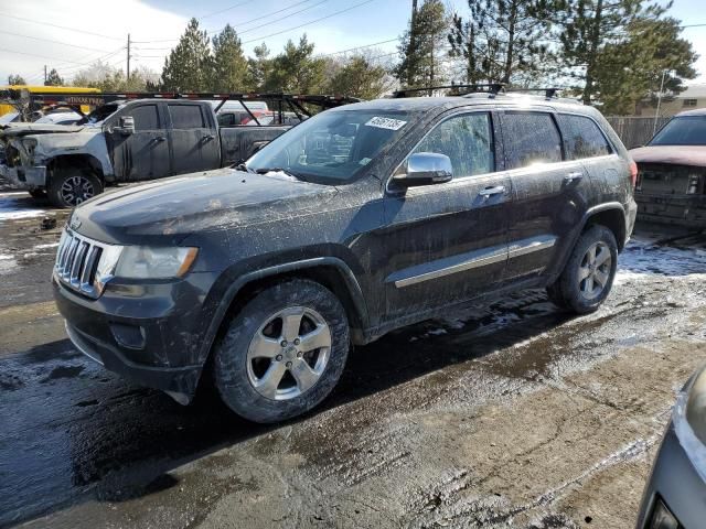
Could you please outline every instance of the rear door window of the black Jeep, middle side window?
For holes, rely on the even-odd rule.
[[[503,140],[506,169],[561,161],[561,138],[549,114],[505,112]]]

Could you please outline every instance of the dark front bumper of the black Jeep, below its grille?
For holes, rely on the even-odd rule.
[[[106,369],[190,400],[203,363],[208,320],[202,300],[210,273],[158,284],[109,284],[97,300],[52,279],[54,299],[76,348]],[[184,403],[184,402],[182,402]]]

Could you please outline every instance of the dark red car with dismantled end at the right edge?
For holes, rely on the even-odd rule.
[[[630,154],[641,219],[706,228],[706,109],[676,115]]]

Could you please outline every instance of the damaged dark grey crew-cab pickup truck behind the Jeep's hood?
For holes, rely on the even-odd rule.
[[[238,164],[291,128],[225,128],[218,125],[212,101],[139,96],[98,106],[73,126],[2,127],[6,161],[0,176],[32,196],[46,194],[56,207],[74,207],[108,185]],[[312,97],[324,101],[321,108],[349,102]]]

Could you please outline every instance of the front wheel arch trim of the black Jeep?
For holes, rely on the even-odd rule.
[[[199,350],[199,363],[208,361],[213,345],[228,316],[236,313],[259,291],[290,279],[310,279],[331,290],[341,300],[349,319],[353,343],[362,343],[362,331],[367,327],[368,314],[361,285],[351,268],[336,257],[317,257],[285,262],[255,270],[238,277],[225,290],[215,309]]]

